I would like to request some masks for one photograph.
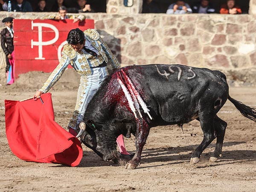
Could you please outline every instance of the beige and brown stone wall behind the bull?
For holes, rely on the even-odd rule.
[[[2,12],[0,19],[7,14]],[[36,19],[44,14],[9,16]],[[90,13],[85,16],[95,20],[95,28],[122,66],[178,63],[230,71],[233,79],[239,76],[247,81],[250,76],[250,81],[256,81],[256,15]]]

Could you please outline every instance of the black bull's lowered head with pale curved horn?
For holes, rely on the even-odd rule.
[[[79,128],[80,131],[76,137],[80,137],[84,145],[91,148],[103,160],[118,162],[120,154],[116,151],[116,137],[109,137],[109,134],[104,132],[105,129],[96,128],[93,124],[86,126],[81,122]]]

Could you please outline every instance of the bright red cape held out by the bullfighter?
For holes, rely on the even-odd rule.
[[[80,141],[54,121],[51,93],[44,102],[5,100],[6,136],[12,152],[22,160],[79,165]]]

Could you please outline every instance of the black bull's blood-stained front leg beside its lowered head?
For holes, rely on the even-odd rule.
[[[125,165],[125,169],[135,169],[140,164],[141,153],[149,134],[149,126],[145,119],[138,119],[136,122],[136,153]]]

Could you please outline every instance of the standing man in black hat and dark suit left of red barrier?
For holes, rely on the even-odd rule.
[[[9,71],[9,59],[12,59],[11,54],[14,50],[12,20],[12,17],[6,17],[2,20],[6,24],[6,28],[1,31],[1,47],[6,55],[6,73]]]

